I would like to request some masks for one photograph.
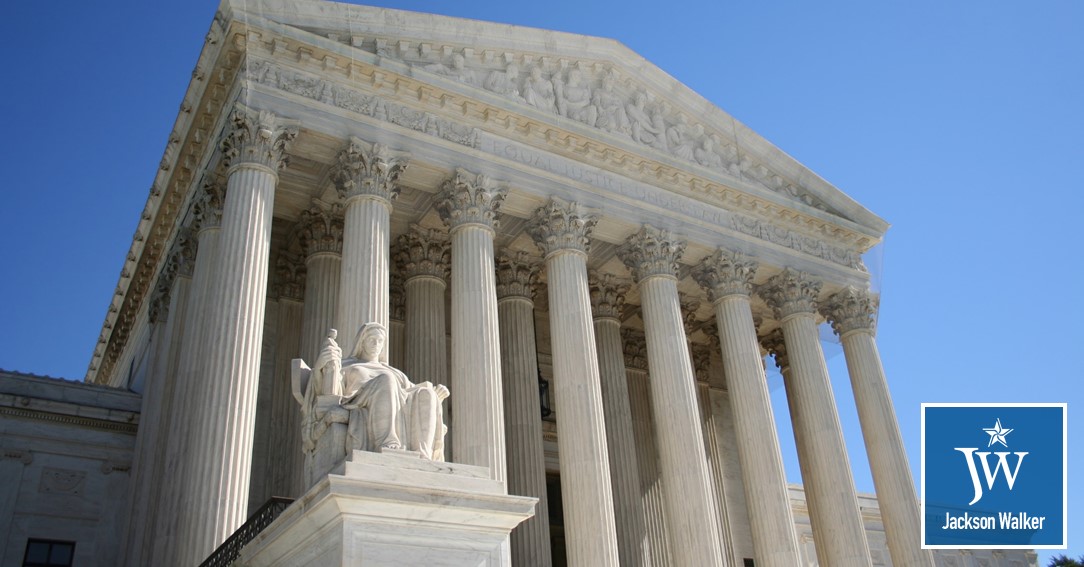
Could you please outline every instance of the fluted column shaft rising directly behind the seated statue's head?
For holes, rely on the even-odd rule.
[[[372,195],[346,204],[338,325],[350,348],[365,323],[388,327],[390,216],[390,203]]]

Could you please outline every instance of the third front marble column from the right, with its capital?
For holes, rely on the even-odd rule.
[[[756,271],[756,262],[741,254],[720,249],[697,266],[694,276],[715,310],[746,502],[754,503],[749,506],[753,559],[782,567],[798,564],[800,552],[749,302]]]

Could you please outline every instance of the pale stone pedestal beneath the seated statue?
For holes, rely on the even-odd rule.
[[[533,498],[485,467],[354,451],[241,552],[238,565],[495,566]]]

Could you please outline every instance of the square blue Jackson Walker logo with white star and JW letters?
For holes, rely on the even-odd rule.
[[[922,547],[1066,549],[1064,403],[922,404]]]

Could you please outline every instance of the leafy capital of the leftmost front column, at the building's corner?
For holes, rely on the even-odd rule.
[[[272,171],[286,167],[286,150],[297,138],[297,123],[283,120],[267,111],[238,104],[230,114],[222,137],[222,154],[228,166],[256,164]]]

